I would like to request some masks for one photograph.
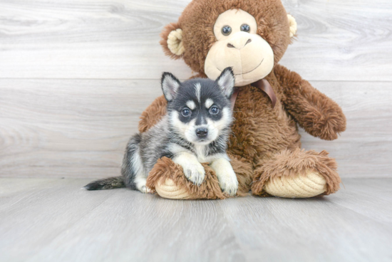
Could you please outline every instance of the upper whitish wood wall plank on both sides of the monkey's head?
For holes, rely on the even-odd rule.
[[[0,78],[188,78],[158,41],[189,0],[2,0]],[[282,60],[309,80],[392,80],[392,4],[284,0],[298,37]]]

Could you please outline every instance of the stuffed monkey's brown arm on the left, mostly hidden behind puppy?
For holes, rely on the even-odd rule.
[[[139,132],[143,133],[153,127],[166,114],[166,105],[163,95],[156,98],[140,115]]]

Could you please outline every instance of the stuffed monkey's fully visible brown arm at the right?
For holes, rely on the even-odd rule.
[[[335,140],[346,130],[346,117],[331,98],[284,66],[275,66],[274,73],[283,88],[284,107],[306,132],[323,140]]]

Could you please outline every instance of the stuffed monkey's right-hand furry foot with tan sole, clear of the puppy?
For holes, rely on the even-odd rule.
[[[341,182],[336,166],[325,151],[284,150],[255,170],[252,193],[287,198],[332,194]]]

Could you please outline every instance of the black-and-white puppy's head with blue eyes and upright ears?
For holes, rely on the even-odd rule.
[[[172,128],[195,145],[207,145],[228,130],[232,122],[229,98],[234,88],[234,75],[226,69],[216,80],[192,79],[183,83],[165,74],[163,90],[168,101]],[[174,83],[174,92],[168,85]],[[169,92],[165,93],[165,90]]]

